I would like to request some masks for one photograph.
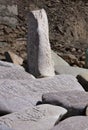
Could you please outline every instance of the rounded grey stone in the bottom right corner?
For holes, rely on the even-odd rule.
[[[67,118],[51,130],[88,130],[88,117],[74,116]]]

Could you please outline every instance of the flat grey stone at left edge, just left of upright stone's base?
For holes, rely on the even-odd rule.
[[[24,69],[19,67],[4,67],[0,66],[0,79],[12,79],[12,80],[23,80],[23,79],[35,79],[35,77],[27,73]]]

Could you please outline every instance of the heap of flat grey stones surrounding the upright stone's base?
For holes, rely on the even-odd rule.
[[[0,61],[0,130],[88,128],[88,69],[53,60],[58,75],[37,79]]]

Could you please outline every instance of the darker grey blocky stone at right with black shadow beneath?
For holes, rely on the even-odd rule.
[[[88,93],[82,91],[63,91],[47,93],[42,97],[43,103],[58,105],[68,110],[67,116],[84,115],[88,104]]]

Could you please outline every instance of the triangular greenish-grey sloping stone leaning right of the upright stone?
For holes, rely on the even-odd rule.
[[[51,54],[52,54],[52,59],[53,59],[53,62],[54,62],[54,68],[56,70],[56,67],[58,66],[69,66],[69,64],[64,60],[62,59],[60,56],[58,56],[53,50],[51,51]]]

